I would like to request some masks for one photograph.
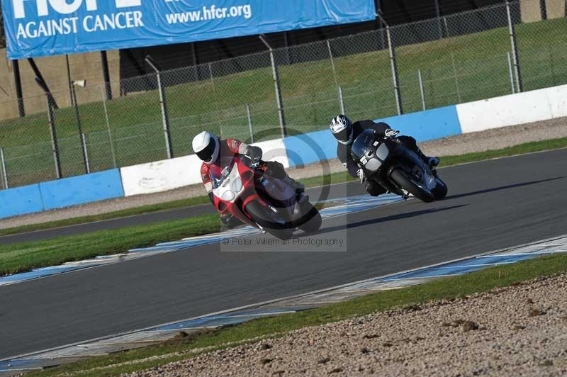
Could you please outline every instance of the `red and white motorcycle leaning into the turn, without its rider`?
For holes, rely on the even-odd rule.
[[[297,229],[312,233],[321,227],[321,215],[308,196],[266,174],[264,162],[238,154],[223,157],[219,165],[209,174],[215,208],[221,214],[234,215],[281,240],[291,238]]]

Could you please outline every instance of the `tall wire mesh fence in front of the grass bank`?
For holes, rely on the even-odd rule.
[[[537,1],[513,1],[509,17],[503,2],[393,26],[397,75],[381,22],[357,35],[111,83],[120,88],[112,100],[103,86],[73,86],[76,99],[72,91],[52,94],[68,99],[52,108],[62,176],[166,159],[168,128],[179,157],[205,129],[259,142],[323,129],[342,111],[354,119],[393,116],[394,78],[404,113],[567,84],[566,13],[542,20],[537,8]],[[47,99],[24,103],[39,103],[40,111],[0,120],[1,188],[57,178]]]

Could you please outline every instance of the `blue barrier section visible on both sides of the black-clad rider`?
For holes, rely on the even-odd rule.
[[[378,119],[376,122],[386,122],[404,135],[415,137],[418,142],[461,133],[455,106]],[[337,158],[337,140],[329,130],[286,137],[283,142],[290,167]]]

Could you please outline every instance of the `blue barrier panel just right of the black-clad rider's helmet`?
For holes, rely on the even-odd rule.
[[[386,122],[394,130],[400,130],[403,135],[415,137],[418,142],[462,133],[456,106],[391,116],[378,119],[376,122]]]

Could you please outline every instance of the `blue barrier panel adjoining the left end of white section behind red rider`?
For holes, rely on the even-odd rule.
[[[40,190],[45,210],[124,196],[118,169],[44,182]]]

